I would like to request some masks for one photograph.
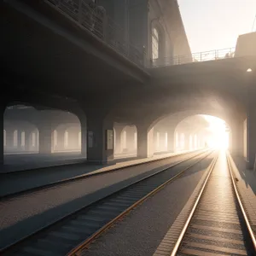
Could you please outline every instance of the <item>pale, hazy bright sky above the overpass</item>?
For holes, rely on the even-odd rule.
[[[240,34],[255,32],[256,0],[178,0],[192,53],[236,47]]]

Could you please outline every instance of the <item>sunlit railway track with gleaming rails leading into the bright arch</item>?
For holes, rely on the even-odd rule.
[[[222,157],[212,164],[171,256],[256,255],[255,235],[225,157],[227,162]]]

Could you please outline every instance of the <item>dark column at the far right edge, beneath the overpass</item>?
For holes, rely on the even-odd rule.
[[[247,73],[247,168],[253,169],[256,154],[256,86],[253,72]]]

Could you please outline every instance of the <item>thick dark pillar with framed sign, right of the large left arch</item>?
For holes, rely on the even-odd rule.
[[[87,161],[105,164],[113,160],[113,119],[100,114],[87,116]]]

